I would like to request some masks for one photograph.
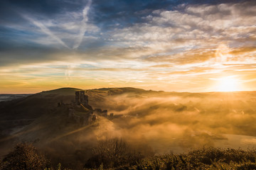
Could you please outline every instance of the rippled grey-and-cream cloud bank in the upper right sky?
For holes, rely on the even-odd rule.
[[[150,55],[139,57],[154,58],[154,62],[162,56],[169,62],[204,62],[211,60],[221,42],[234,50],[241,38],[248,45],[253,44],[252,21],[256,18],[245,10],[250,11],[251,6],[255,4],[185,5],[174,11],[153,11],[144,17],[145,23],[114,30],[112,41],[131,48],[147,47]]]

